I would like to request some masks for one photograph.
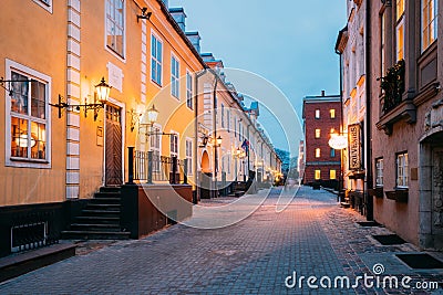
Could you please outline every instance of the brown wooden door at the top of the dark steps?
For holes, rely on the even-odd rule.
[[[120,186],[122,175],[121,108],[106,106],[105,185]]]

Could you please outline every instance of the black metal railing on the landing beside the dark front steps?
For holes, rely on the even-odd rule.
[[[134,150],[133,147],[128,147],[128,183],[133,183],[134,180],[147,183],[187,183],[186,159],[161,156],[156,151]]]

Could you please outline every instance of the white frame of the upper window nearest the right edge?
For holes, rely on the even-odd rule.
[[[427,20],[427,23],[424,23],[424,2],[426,1],[426,12],[429,12],[429,7],[432,3],[433,7],[433,15],[432,19]],[[421,0],[420,1],[420,14],[421,14],[421,21],[420,21],[420,25],[421,25],[421,30],[420,30],[420,36],[421,36],[421,50],[422,53],[429,48],[431,46],[435,40],[437,39],[437,11],[439,11],[439,0]],[[424,33],[424,31],[427,31],[427,35]],[[432,30],[432,32],[429,32],[429,30]],[[432,40],[433,39],[433,40]]]

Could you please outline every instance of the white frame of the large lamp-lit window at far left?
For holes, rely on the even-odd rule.
[[[47,158],[44,160],[42,159],[31,159],[31,158],[18,158],[18,157],[11,157],[11,97],[9,96],[8,91],[4,92],[4,98],[6,98],[6,135],[4,135],[4,143],[6,143],[6,150],[4,150],[4,157],[6,161],[4,165],[9,167],[23,167],[23,168],[44,168],[44,169],[50,169],[51,168],[51,109],[49,107],[49,102],[51,97],[51,83],[52,78],[45,74],[42,74],[40,72],[37,72],[35,70],[32,70],[25,65],[22,65],[20,63],[17,63],[11,60],[6,60],[6,80],[11,80],[11,72],[17,72],[19,74],[25,75],[29,78],[37,80],[43,84],[47,85],[45,87],[45,103],[44,103],[44,112],[45,112],[45,119],[33,119],[34,122],[45,124],[45,156]],[[31,85],[29,86],[29,91],[31,91]],[[29,103],[29,107],[31,104]],[[22,115],[18,114],[14,115],[16,117],[20,118],[32,118],[30,115]],[[28,133],[30,133],[30,128],[28,127]]]

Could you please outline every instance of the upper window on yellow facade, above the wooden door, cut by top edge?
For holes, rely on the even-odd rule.
[[[124,0],[106,1],[106,46],[124,56]]]

